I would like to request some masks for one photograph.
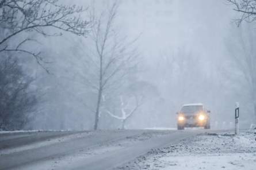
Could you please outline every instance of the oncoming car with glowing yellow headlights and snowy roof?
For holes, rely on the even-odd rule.
[[[178,130],[184,130],[185,127],[204,127],[211,128],[211,111],[205,109],[202,103],[184,105],[181,111],[177,113]]]

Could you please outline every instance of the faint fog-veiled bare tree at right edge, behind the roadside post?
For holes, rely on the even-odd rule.
[[[252,105],[254,109],[254,117],[256,118],[256,33],[251,25],[241,26],[239,29],[233,29],[228,39],[227,49],[230,53],[231,60],[235,63],[234,74],[240,75],[246,86],[243,91],[248,90],[249,98],[247,106]]]

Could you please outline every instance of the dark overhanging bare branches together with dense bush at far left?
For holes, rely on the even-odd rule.
[[[0,129],[22,129],[35,114],[37,96],[33,79],[22,68],[22,61],[31,56],[45,71],[47,61],[33,44],[40,43],[30,35],[60,36],[47,28],[86,36],[89,22],[74,14],[85,11],[82,7],[59,5],[58,1],[0,1]]]

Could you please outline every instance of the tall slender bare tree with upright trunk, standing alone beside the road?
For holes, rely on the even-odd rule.
[[[94,130],[98,128],[100,114],[105,102],[119,95],[120,89],[129,74],[136,70],[137,49],[136,40],[128,40],[117,24],[119,1],[105,3],[100,14],[93,5],[90,20],[93,23],[91,33],[86,38],[87,44],[80,47],[84,52],[81,57],[83,70],[76,73],[81,82],[89,87],[97,96],[95,98]]]

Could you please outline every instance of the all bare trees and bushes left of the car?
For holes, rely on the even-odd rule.
[[[93,129],[97,130],[102,114],[121,120],[120,127],[125,128],[127,119],[151,98],[150,91],[157,95],[152,84],[136,80],[140,63],[137,38],[132,39],[121,31],[117,23],[119,5],[114,0],[99,10],[94,3],[83,9],[61,5],[57,0],[0,1],[0,28],[4,33],[0,37],[3,61],[0,71],[5,76],[5,79],[1,77],[0,129],[22,129],[32,118],[51,122],[52,115],[60,122],[59,129],[65,129],[64,122],[71,117],[77,117],[72,118],[74,121],[79,118],[91,121],[94,115]],[[80,16],[85,13],[86,21]],[[60,36],[69,37],[69,41],[73,40],[72,57],[58,58],[51,49],[42,51],[42,36],[48,42],[52,37],[56,40],[63,40]],[[47,75],[28,64],[32,59]],[[73,65],[63,74],[52,68],[58,65],[51,62],[55,59],[58,63],[68,60]],[[67,88],[68,84],[76,89]],[[15,90],[18,97],[12,96],[16,95]],[[67,98],[60,100],[63,94],[72,98],[72,102]],[[83,106],[83,114],[77,114],[79,111],[74,109],[77,103]],[[64,109],[67,107],[69,113]]]

